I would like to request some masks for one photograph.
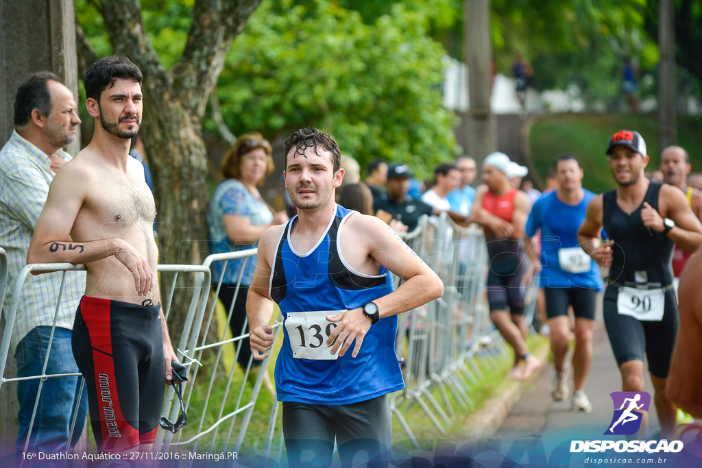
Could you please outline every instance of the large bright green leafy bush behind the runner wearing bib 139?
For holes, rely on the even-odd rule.
[[[333,2],[267,2],[232,44],[218,98],[235,134],[317,126],[362,166],[383,157],[428,175],[456,154],[443,55],[423,15],[401,4],[366,24]]]

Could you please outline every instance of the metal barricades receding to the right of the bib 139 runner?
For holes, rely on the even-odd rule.
[[[460,227],[443,213],[438,218],[424,217],[404,240],[444,282],[443,297],[401,314],[399,320],[396,352],[406,356],[406,388],[390,395],[390,409],[418,447],[403,413],[417,403],[444,434],[444,424],[450,424],[455,414],[451,401],[468,408],[470,384],[482,377],[485,367],[494,368],[505,359],[509,348],[490,320],[484,293],[489,265],[482,229]],[[534,316],[536,290],[535,283],[527,290],[529,321]]]

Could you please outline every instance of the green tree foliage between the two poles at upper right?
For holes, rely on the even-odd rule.
[[[498,72],[510,75],[520,51],[539,89],[575,84],[585,102],[608,105],[621,92],[625,57],[642,72],[658,62],[658,48],[643,32],[644,0],[494,0],[491,7]]]

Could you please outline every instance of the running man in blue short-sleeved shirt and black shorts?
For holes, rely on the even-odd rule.
[[[569,394],[566,357],[571,305],[575,314],[571,409],[590,413],[592,405],[584,388],[592,362],[595,300],[597,291],[602,290],[602,279],[600,268],[578,245],[578,228],[585,219],[585,207],[595,194],[583,189],[583,168],[574,154],[558,156],[553,168],[558,187],[534,203],[524,230],[531,238],[541,229],[539,280],[544,290],[555,370],[551,395],[555,401],[562,401]],[[536,257],[533,243],[528,244],[530,256]]]

